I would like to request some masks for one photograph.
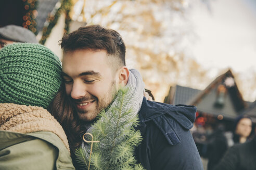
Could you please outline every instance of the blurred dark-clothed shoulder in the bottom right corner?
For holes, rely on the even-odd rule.
[[[213,170],[255,170],[256,169],[256,136],[245,143],[234,145],[227,150]]]

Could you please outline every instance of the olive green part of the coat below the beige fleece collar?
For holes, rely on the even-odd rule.
[[[69,152],[52,132],[0,131],[0,169],[74,169]]]

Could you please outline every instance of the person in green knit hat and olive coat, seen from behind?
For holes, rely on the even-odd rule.
[[[46,47],[0,49],[0,169],[74,169],[67,136],[46,110],[61,81],[61,63]]]

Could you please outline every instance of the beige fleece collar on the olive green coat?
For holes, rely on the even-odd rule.
[[[0,130],[18,133],[53,132],[69,150],[67,136],[61,125],[42,107],[0,103]]]

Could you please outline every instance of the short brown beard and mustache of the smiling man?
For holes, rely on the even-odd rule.
[[[71,98],[72,103],[73,103],[73,107],[75,108],[75,110],[76,110],[76,112],[79,116],[79,119],[81,121],[85,121],[85,122],[94,121],[95,118],[97,117],[97,115],[99,114],[99,112],[103,109],[106,109],[111,104],[111,102],[114,98],[114,94],[117,93],[115,84],[116,84],[116,81],[112,81],[108,92],[100,100],[96,96],[93,96],[93,95],[87,95],[87,96],[84,96],[82,98],[79,98],[78,100],[74,100],[73,98]],[[75,103],[82,103],[83,101],[95,101],[95,102],[97,102],[95,110],[93,110],[93,112],[89,113],[88,110],[78,109],[76,107]]]

